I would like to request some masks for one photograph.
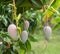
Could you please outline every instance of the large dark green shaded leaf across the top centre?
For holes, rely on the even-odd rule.
[[[18,1],[16,2],[17,6],[26,7],[25,9],[27,9],[27,8],[40,9],[43,6],[43,4],[40,0],[21,0],[21,2],[20,2],[20,0],[18,0]]]

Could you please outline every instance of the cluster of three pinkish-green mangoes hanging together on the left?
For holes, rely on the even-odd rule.
[[[20,39],[21,42],[24,44],[28,39],[28,28],[29,28],[29,21],[24,21],[24,30],[21,32]],[[18,30],[15,24],[10,24],[8,26],[8,34],[14,40],[18,40]]]

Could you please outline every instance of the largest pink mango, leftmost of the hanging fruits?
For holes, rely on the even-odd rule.
[[[17,40],[17,29],[14,24],[10,24],[8,26],[8,34],[11,36],[14,40]]]

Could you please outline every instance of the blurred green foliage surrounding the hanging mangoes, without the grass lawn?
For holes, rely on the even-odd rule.
[[[53,30],[60,29],[60,0],[16,0],[15,2],[17,15],[22,14],[19,27],[23,28],[23,20],[30,22],[29,39],[25,45],[19,40],[15,44],[7,34],[7,27],[12,23],[12,0],[0,0],[0,39],[3,42],[3,45],[0,46],[1,54],[23,54],[26,52],[26,48],[28,53],[31,53],[30,41],[38,41],[37,32],[43,30],[46,23]],[[9,44],[7,41],[11,41],[11,43]]]

